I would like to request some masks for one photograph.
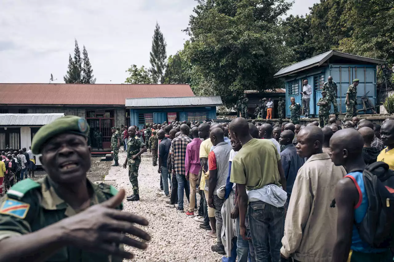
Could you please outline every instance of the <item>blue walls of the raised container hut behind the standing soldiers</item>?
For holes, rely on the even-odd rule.
[[[318,90],[315,80],[324,76],[324,81],[327,82],[329,76],[333,76],[333,81],[338,86],[338,111],[340,113],[346,113],[346,92],[348,91],[349,85],[352,84],[353,79],[358,78],[360,80],[357,86],[357,98],[361,98],[368,91],[369,100],[375,105],[376,104],[376,66],[375,65],[335,65],[330,64],[325,67],[318,69],[312,69],[302,71],[297,74],[296,77],[286,79],[286,116],[290,117],[290,97],[294,96],[296,103],[302,106],[301,94],[303,80],[308,79],[309,85],[312,86],[312,95],[310,97],[310,114],[317,115],[319,107],[316,103],[322,97],[322,91]],[[297,94],[290,94],[290,85],[295,82],[298,83]],[[357,100],[358,109],[362,109],[362,101]],[[333,106],[331,104],[330,113],[334,113]],[[367,113],[371,113],[368,111]]]

